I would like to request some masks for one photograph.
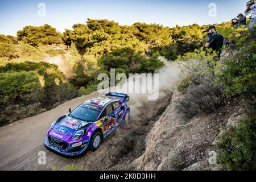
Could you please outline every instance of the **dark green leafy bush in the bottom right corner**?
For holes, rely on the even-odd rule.
[[[256,170],[256,123],[243,118],[238,127],[230,127],[216,144],[217,160],[232,171]]]

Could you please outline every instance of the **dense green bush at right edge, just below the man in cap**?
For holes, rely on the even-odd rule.
[[[256,93],[256,42],[241,47],[233,56],[224,60],[218,80],[225,96],[245,96]]]

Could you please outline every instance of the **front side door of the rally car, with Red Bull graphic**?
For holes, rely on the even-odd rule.
[[[113,104],[109,104],[105,107],[104,111],[101,115],[101,120],[103,122],[103,132],[104,135],[108,135],[113,131],[114,127],[118,126],[118,123],[116,123],[116,114],[113,109]]]

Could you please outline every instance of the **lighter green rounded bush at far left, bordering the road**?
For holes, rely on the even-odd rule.
[[[0,73],[0,125],[42,111],[42,85],[36,72]]]

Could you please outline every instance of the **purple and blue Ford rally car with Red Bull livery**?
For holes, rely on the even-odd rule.
[[[87,149],[96,151],[102,139],[122,122],[130,120],[127,94],[110,92],[104,97],[83,102],[69,114],[54,121],[44,145],[66,156],[80,155]]]

